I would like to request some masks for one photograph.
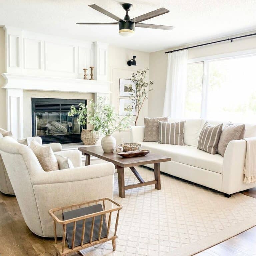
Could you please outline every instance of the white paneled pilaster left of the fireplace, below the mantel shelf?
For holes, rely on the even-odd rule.
[[[23,137],[23,90],[7,89],[7,130],[12,131],[15,138]]]

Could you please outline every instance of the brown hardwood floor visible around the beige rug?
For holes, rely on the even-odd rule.
[[[256,198],[256,188],[243,194]],[[15,196],[7,196],[0,192],[1,256],[55,256],[53,244],[54,239],[41,238],[28,229]],[[256,256],[256,227],[196,255]]]

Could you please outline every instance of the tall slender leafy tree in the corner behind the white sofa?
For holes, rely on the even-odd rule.
[[[141,71],[137,70],[136,73],[132,73],[132,78],[130,79],[135,85],[135,89],[132,87],[129,89],[129,99],[132,101],[135,108],[135,125],[137,125],[140,110],[144,104],[144,101],[145,99],[148,99],[148,92],[153,90],[151,87],[153,85],[153,81],[144,81],[147,71],[148,68]]]

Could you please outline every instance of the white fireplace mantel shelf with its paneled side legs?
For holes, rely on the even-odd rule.
[[[76,78],[43,77],[3,73],[6,89],[7,129],[23,138],[23,90],[94,93],[110,98],[111,82]]]

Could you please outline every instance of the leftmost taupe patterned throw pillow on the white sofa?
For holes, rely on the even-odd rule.
[[[167,117],[144,117],[144,139],[143,141],[159,141],[158,121],[168,122]]]

